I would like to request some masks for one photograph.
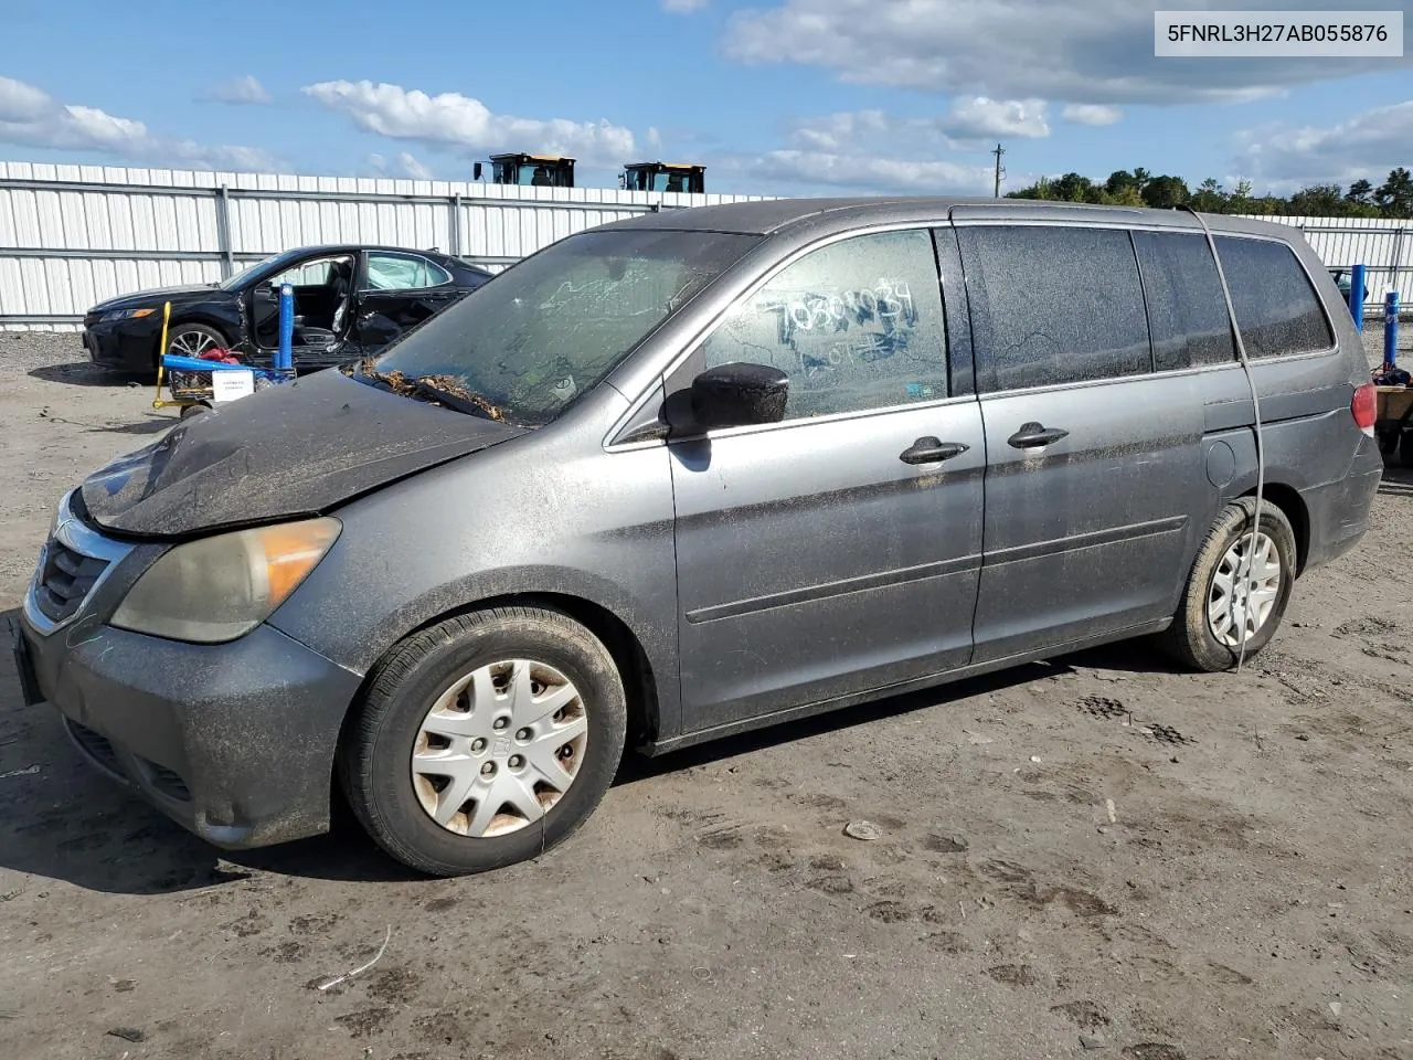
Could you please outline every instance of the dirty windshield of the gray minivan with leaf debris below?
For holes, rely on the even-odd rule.
[[[756,243],[719,232],[581,232],[406,334],[357,377],[449,382],[541,425],[592,390]]]

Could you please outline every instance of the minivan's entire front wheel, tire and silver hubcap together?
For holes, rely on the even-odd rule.
[[[339,749],[363,828],[437,876],[568,838],[608,791],[627,704],[608,649],[568,616],[495,608],[441,622],[379,666]]]

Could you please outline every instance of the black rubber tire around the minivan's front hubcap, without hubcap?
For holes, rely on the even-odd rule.
[[[503,835],[458,835],[418,801],[410,776],[413,748],[442,691],[506,659],[548,664],[574,683],[588,721],[582,760],[538,823]],[[397,861],[434,876],[486,872],[543,854],[589,818],[613,782],[626,726],[623,680],[589,630],[544,608],[478,611],[410,636],[379,664],[345,726],[339,783],[359,823]]]

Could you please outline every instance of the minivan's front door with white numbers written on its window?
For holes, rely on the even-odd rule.
[[[729,362],[784,370],[790,400],[780,424],[670,444],[684,729],[965,664],[985,445],[969,382],[950,393],[931,235],[807,253],[726,314],[668,394]]]

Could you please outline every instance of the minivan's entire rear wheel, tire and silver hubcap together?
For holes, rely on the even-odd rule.
[[[1229,670],[1242,642],[1251,659],[1276,635],[1296,578],[1296,534],[1265,502],[1252,536],[1253,497],[1229,503],[1197,550],[1164,646],[1197,670]]]

